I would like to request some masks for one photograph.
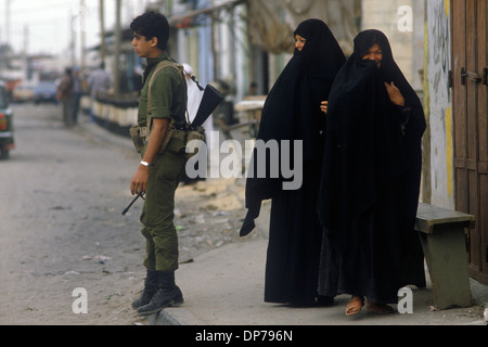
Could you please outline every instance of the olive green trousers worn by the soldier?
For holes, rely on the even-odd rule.
[[[150,167],[140,218],[143,224],[141,233],[146,240],[146,257],[143,262],[146,269],[178,269],[178,234],[174,223],[175,193],[184,165],[184,154],[176,153],[168,146]]]

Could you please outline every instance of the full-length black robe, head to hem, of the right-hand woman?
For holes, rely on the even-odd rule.
[[[383,50],[380,68],[362,60],[374,43]],[[384,82],[391,81],[404,107],[389,100]],[[406,284],[425,286],[414,222],[426,124],[383,33],[356,37],[355,52],[330,93],[326,127],[318,205],[326,235],[319,293],[396,303]]]

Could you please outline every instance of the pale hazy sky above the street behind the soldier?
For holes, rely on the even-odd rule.
[[[142,13],[147,2],[150,1],[123,0],[123,27]],[[59,55],[68,53],[75,38],[76,50],[79,52],[82,13],[86,47],[100,42],[99,3],[100,0],[0,0],[0,41],[9,43],[16,53],[26,50],[29,54]],[[105,29],[111,30],[115,26],[115,0],[104,0],[104,8]]]

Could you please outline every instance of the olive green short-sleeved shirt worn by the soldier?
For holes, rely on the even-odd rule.
[[[171,60],[167,52],[157,57],[147,57],[147,66],[144,70],[143,87],[139,97],[138,124],[140,127],[146,126],[147,120],[147,92],[149,81],[156,65],[164,61]],[[175,119],[176,124],[185,121],[187,112],[187,81],[183,76],[174,67],[165,67],[159,70],[151,87],[152,118]]]

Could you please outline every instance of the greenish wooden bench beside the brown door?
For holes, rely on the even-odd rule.
[[[472,306],[465,228],[475,217],[420,203],[415,230],[431,274],[434,306],[439,309]]]

